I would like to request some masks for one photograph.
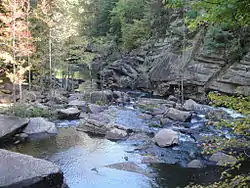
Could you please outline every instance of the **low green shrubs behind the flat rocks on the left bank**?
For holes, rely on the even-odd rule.
[[[28,106],[27,104],[24,103],[17,103],[11,106],[5,113],[22,118],[31,118],[31,117],[53,118],[53,116],[55,115],[52,110],[42,109],[35,106]]]

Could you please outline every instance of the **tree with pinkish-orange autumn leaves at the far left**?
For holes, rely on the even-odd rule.
[[[16,102],[16,85],[19,85],[20,100],[22,100],[23,76],[29,69],[25,62],[27,56],[35,51],[33,38],[28,28],[26,13],[29,9],[28,0],[3,0],[1,3],[1,37],[4,46],[1,48],[1,59],[6,66],[13,69],[7,76],[13,83],[13,101]]]

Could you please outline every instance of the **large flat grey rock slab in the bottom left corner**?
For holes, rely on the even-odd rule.
[[[63,174],[49,161],[0,149],[0,188],[61,188]]]

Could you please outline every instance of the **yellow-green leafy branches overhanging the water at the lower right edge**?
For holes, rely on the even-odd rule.
[[[190,185],[188,187],[194,188],[227,188],[227,187],[248,187],[250,183],[250,176],[239,174],[233,176],[232,170],[239,169],[241,166],[241,161],[246,160],[248,157],[245,153],[245,149],[249,148],[249,136],[250,136],[250,98],[243,96],[226,96],[218,93],[209,93],[209,99],[215,106],[224,106],[238,112],[245,114],[245,117],[241,119],[236,119],[233,121],[221,120],[215,126],[220,129],[223,127],[231,128],[235,137],[227,139],[222,137],[209,137],[204,139],[202,143],[204,154],[213,154],[218,151],[223,151],[229,155],[236,157],[237,162],[230,165],[230,168],[223,171],[221,174],[222,181],[215,182],[208,186],[201,185]],[[238,171],[240,173],[240,171]]]

